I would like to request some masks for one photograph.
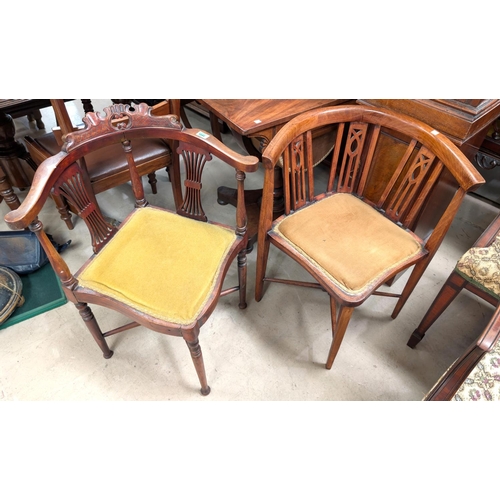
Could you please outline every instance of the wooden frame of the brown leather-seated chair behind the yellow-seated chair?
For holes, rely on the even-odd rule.
[[[89,100],[86,100],[89,101]],[[52,108],[56,116],[56,121],[58,126],[52,131],[55,140],[59,146],[64,143],[64,137],[67,134],[75,132],[78,127],[73,125],[71,118],[68,114],[64,99],[51,99]],[[88,108],[87,108],[88,109]],[[152,113],[154,115],[179,115],[179,101],[178,100],[165,100],[161,103],[152,106]],[[46,149],[37,139],[33,139],[30,136],[24,137],[26,147],[30,153],[31,158],[36,165],[40,165],[44,160],[52,156],[55,151]],[[171,144],[168,145],[171,150]],[[146,158],[141,162],[137,163],[137,171],[140,176],[147,175],[149,184],[151,185],[151,191],[153,194],[157,193],[157,180],[156,171],[165,168],[169,172],[170,165],[172,164],[172,155],[168,147],[165,148],[165,154],[155,155],[152,158]],[[82,167],[86,168],[85,158],[79,159]],[[90,182],[92,184],[92,189],[95,194],[102,193],[112,187],[120,186],[130,181],[130,174],[128,167],[124,164],[123,168],[119,171],[115,171],[106,176],[99,176],[99,178],[93,178],[92,171],[89,171]],[[169,174],[170,175],[170,174]],[[61,219],[66,223],[69,229],[73,229],[73,222],[71,212],[75,212],[74,207],[71,207],[64,202],[63,199],[57,195],[53,195],[54,202],[59,210]]]

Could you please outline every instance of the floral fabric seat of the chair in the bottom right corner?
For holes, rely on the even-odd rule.
[[[452,401],[500,401],[500,341],[474,367]]]

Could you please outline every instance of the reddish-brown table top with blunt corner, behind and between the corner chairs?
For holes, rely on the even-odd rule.
[[[230,128],[249,136],[282,125],[300,113],[351,99],[197,99]]]

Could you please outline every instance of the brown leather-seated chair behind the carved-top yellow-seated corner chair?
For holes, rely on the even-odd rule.
[[[75,126],[71,121],[64,99],[51,99],[50,101],[59,126],[51,133],[41,137],[24,137],[31,158],[37,165],[40,165],[50,156],[57,154],[63,144],[63,137],[78,129],[78,126]],[[86,99],[85,101],[86,109],[89,109],[90,99]],[[178,115],[178,101],[162,101],[152,109],[152,113],[156,115]],[[120,154],[119,150],[120,145],[115,144],[96,150],[80,159],[81,165],[88,170],[92,189],[95,194],[130,181],[126,159]],[[137,171],[140,176],[148,176],[149,184],[154,194],[157,192],[155,172],[162,168],[165,168],[168,172],[172,163],[171,154],[171,145],[162,139],[156,138],[138,141],[134,148]],[[74,207],[68,206],[56,195],[53,198],[61,219],[66,222],[69,229],[72,229],[73,223],[70,211],[75,212]]]

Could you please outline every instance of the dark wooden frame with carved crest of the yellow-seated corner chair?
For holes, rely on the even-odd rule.
[[[244,179],[247,172],[254,172],[258,168],[258,159],[232,151],[216,138],[201,130],[184,128],[174,115],[154,116],[151,108],[146,104],[134,106],[134,111],[128,105],[116,104],[105,108],[104,114],[87,113],[84,117],[84,123],[85,129],[64,137],[64,145],[60,153],[48,158],[39,166],[35,172],[31,189],[21,207],[8,213],[5,216],[5,221],[12,229],[29,227],[37,235],[52,267],[61,280],[66,297],[78,309],[105,358],[110,358],[113,355],[113,351],[106,342],[107,337],[139,325],[163,334],[182,337],[189,347],[201,383],[201,392],[206,395],[210,392],[210,387],[206,379],[198,336],[201,326],[214,311],[220,296],[238,292],[239,307],[246,307],[246,246],[248,236],[246,233]],[[61,255],[55,251],[50,243],[43,230],[42,222],[37,217],[51,194],[55,193],[65,198],[66,201],[78,208],[78,215],[88,226],[94,255],[99,254],[119,233],[125,221],[119,228],[116,228],[104,219],[92,190],[88,173],[78,163],[78,160],[91,151],[110,144],[121,143],[123,153],[128,161],[135,197],[135,209],[132,212],[134,213],[148,206],[133,155],[134,140],[144,138],[163,138],[173,144],[175,154],[172,164],[172,187],[176,200],[176,212],[179,216],[211,224],[207,221],[207,216],[201,205],[201,176],[205,163],[210,161],[212,156],[215,156],[235,169],[239,194],[236,223],[233,228],[236,240],[222,263],[209,300],[203,306],[196,320],[189,325],[160,320],[133,309],[115,298],[82,286],[78,276],[93,256],[82,266],[80,271],[72,274]],[[180,155],[184,159],[186,170],[184,190],[180,180]],[[235,259],[237,259],[238,264],[239,284],[223,290],[224,277]],[[131,319],[132,322],[103,333],[88,305],[89,303],[118,311]]]

